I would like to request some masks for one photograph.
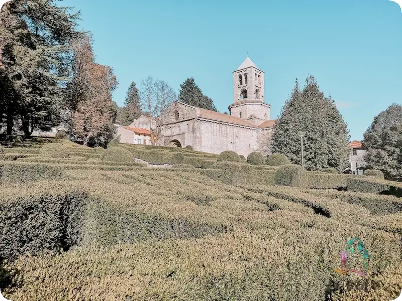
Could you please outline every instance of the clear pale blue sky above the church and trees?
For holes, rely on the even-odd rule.
[[[362,139],[373,117],[402,103],[402,0],[65,0],[81,11],[96,62],[113,67],[113,99],[148,75],[178,93],[194,77],[222,113],[233,102],[232,71],[249,53],[265,72],[271,118],[298,78],[316,77]]]

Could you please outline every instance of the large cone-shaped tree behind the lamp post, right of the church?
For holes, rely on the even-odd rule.
[[[304,159],[308,170],[345,169],[349,159],[349,132],[334,100],[319,90],[314,76],[303,90],[295,86],[286,100],[272,132],[272,152],[301,164],[299,132],[304,137]]]

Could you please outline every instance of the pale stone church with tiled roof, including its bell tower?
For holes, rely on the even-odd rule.
[[[275,120],[271,105],[264,100],[264,72],[249,57],[233,71],[233,103],[229,114],[198,108],[175,101],[161,126],[160,145],[185,147],[220,154],[233,150],[247,157],[261,151],[261,141],[270,135]],[[149,119],[141,116],[129,127],[149,129]]]

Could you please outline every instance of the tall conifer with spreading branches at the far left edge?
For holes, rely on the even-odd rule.
[[[59,121],[63,86],[70,76],[70,42],[78,15],[53,0],[11,0],[0,12],[0,121],[11,133],[19,120],[26,135]]]

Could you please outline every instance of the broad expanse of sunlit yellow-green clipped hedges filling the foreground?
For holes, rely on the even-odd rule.
[[[80,148],[74,149],[80,158],[91,152],[62,142]],[[390,300],[402,289],[400,199],[235,187],[191,171],[99,171],[91,166],[100,161],[91,159],[89,167],[63,171],[64,179],[0,184],[1,199],[78,189],[111,208],[110,220],[103,221],[100,211],[89,210],[81,246],[7,262],[10,274],[19,270],[19,285],[5,289],[11,300],[324,301],[337,287],[334,300]],[[320,214],[324,209],[330,218]],[[202,235],[187,225],[197,225]],[[354,236],[372,256],[367,278],[333,270]],[[353,283],[363,283],[363,289]],[[375,289],[366,292],[364,286]]]

